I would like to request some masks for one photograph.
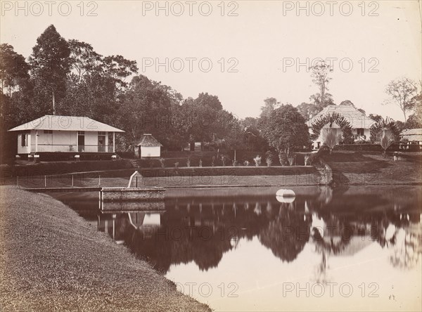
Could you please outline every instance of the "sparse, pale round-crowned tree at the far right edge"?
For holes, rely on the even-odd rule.
[[[402,110],[404,122],[407,120],[406,113],[412,110],[416,103],[416,91],[416,83],[407,77],[393,80],[385,88],[385,93],[391,96],[388,103],[395,103]]]

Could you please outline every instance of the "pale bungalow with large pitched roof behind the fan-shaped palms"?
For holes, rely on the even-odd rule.
[[[345,117],[345,119],[350,122],[352,126],[352,134],[354,136],[354,140],[369,140],[371,136],[370,128],[375,121],[369,117],[367,117],[363,112],[359,111],[357,108],[354,107],[353,103],[350,100],[343,100],[340,105],[328,105],[324,110],[321,110],[318,114],[314,117],[309,119],[307,125],[309,126],[309,132],[312,133],[312,124],[319,119],[320,117],[332,114],[333,112],[338,113]],[[328,125],[324,126],[324,128],[328,127]],[[333,129],[336,129],[337,134],[342,134],[340,127],[336,124],[333,124]],[[322,138],[322,131],[318,138],[313,142],[313,148],[318,149],[321,147],[324,140]]]

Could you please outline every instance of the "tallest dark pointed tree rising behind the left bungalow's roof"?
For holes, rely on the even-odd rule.
[[[53,114],[56,113],[56,99],[65,96],[66,77],[70,72],[70,48],[57,32],[54,25],[50,25],[37,39],[29,58],[32,77],[35,80],[36,94],[40,97],[51,95]],[[39,99],[41,102],[43,99]]]

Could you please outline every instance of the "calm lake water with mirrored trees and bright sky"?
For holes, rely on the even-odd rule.
[[[421,311],[421,187],[167,190],[149,212],[60,200],[216,311]]]

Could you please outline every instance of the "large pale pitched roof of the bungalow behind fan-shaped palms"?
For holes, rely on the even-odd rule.
[[[369,117],[367,117],[363,112],[357,110],[354,107],[353,103],[350,100],[345,100],[340,105],[328,105],[326,108],[321,110],[318,114],[314,117],[309,119],[307,122],[308,126],[312,126],[312,124],[319,119],[319,117],[324,116],[326,114],[332,114],[333,112],[337,112],[338,114],[342,115],[350,122],[350,126],[352,129],[363,128],[369,129],[375,121]]]

